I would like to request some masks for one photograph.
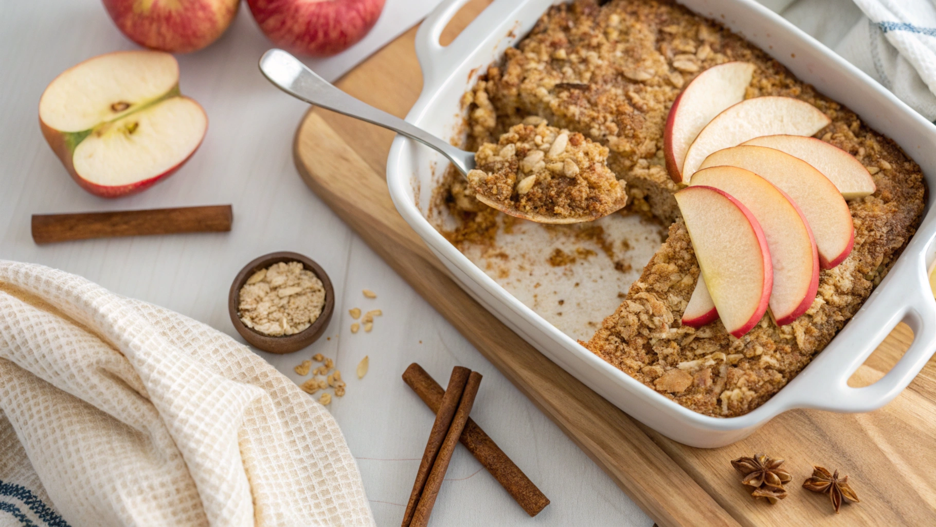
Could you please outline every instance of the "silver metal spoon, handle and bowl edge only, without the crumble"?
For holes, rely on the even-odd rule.
[[[361,121],[366,121],[371,124],[383,126],[407,138],[416,139],[422,144],[436,150],[439,154],[445,155],[448,160],[452,162],[452,165],[458,168],[462,176],[466,176],[469,170],[475,168],[475,153],[465,152],[455,148],[445,140],[439,139],[425,130],[403,121],[399,117],[390,115],[384,110],[377,110],[373,108],[373,106],[351,95],[345,94],[329,83],[329,81],[316,75],[313,70],[306,67],[299,59],[286,51],[274,49],[263,53],[263,56],[260,57],[260,71],[263,72],[264,77],[276,85],[277,88],[309,104],[337,111],[348,117],[354,117],[355,119],[360,119]],[[475,197],[485,205],[497,209],[498,211],[538,223],[580,223],[592,221],[605,215],[592,214],[587,217],[547,216],[537,213],[521,212],[503,203],[492,201],[480,195],[476,195]]]

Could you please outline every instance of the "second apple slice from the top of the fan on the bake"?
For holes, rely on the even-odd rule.
[[[791,97],[754,97],[719,113],[699,132],[686,152],[682,180],[689,183],[695,170],[713,152],[761,136],[812,136],[831,121],[812,104]]]

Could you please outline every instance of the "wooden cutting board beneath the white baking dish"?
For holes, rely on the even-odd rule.
[[[443,43],[485,7],[475,0]],[[421,89],[410,30],[348,73],[339,87],[404,116]],[[390,201],[384,179],[393,134],[324,110],[296,133],[300,174],[377,254],[461,331],[507,378],[663,526],[936,525],[936,361],[892,403],[868,414],[796,410],[731,446],[683,446],[643,426],[585,387],[472,300],[450,278]],[[895,329],[852,377],[882,377],[913,340]],[[401,372],[402,373],[402,372]],[[794,480],[777,505],[754,500],[729,461],[766,452],[786,459]],[[825,494],[800,487],[812,464],[849,476],[860,504],[835,514]],[[522,467],[521,467],[522,468]],[[555,506],[555,505],[553,505]]]

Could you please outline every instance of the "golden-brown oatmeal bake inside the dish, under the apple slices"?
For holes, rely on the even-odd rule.
[[[818,283],[810,289],[814,296],[805,299],[805,313],[778,326],[771,313],[762,310],[753,329],[746,328],[739,338],[729,334],[718,318],[698,327],[682,323],[700,279],[700,263],[686,227],[688,217],[683,218],[674,198],[686,188],[691,174],[683,174],[680,181],[679,174],[667,171],[665,140],[667,116],[680,93],[709,68],[736,61],[753,65],[746,69],[749,78],[744,79],[740,99],[769,95],[808,103],[811,110],[821,112],[822,121],[794,135],[838,147],[870,178],[867,191],[849,193],[831,169],[802,156],[826,173],[848,199],[854,225],[849,243],[854,244],[848,245],[847,257],[831,262],[834,267],[827,259],[822,260],[821,270],[817,263]],[[603,181],[626,182],[628,204],[618,214],[652,216],[668,226],[665,242],[622,295],[620,306],[581,344],[665,397],[705,415],[748,413],[796,376],[868,299],[922,218],[923,174],[893,141],[798,81],[744,38],[673,2],[612,0],[599,6],[578,0],[550,7],[516,48],[488,68],[463,102],[468,110],[466,146],[478,152],[479,161],[490,154],[510,157],[504,151],[510,150],[511,141],[502,135],[528,135],[537,127],[548,128],[557,137],[561,133],[569,141],[593,142],[601,154],[607,149],[607,168],[613,174],[603,176]],[[772,125],[764,124],[767,130]],[[780,142],[763,144],[780,148],[776,146]],[[526,156],[518,160],[516,150],[506,154],[514,154],[510,163],[515,165],[542,161]],[[537,168],[559,182],[576,181],[567,177],[575,169],[566,172],[564,161]],[[783,190],[782,183],[764,177]],[[459,230],[468,228],[468,223],[476,227],[479,218],[490,220],[498,213],[478,203],[469,186],[449,176],[440,193],[448,211],[462,221],[461,227],[445,232],[453,242],[470,239]],[[823,256],[824,232],[815,226],[812,230]],[[706,265],[703,261],[701,267]],[[709,270],[704,272],[711,297],[718,303]],[[766,306],[766,299],[762,303]]]

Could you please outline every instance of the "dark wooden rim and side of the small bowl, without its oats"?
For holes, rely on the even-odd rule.
[[[292,335],[273,337],[244,326],[243,322],[241,322],[241,317],[238,316],[238,304],[241,303],[241,287],[247,282],[247,279],[253,276],[256,271],[267,269],[274,263],[279,262],[301,262],[306,270],[312,271],[312,273],[322,281],[322,285],[325,287],[325,306],[322,307],[322,314],[318,315],[318,318],[315,319],[312,326]],[[241,269],[241,272],[234,278],[234,283],[231,284],[231,290],[227,294],[227,311],[231,315],[231,323],[234,324],[234,329],[237,329],[237,332],[241,333],[241,337],[243,337],[245,341],[258,349],[270,353],[293,353],[314,343],[329,326],[331,313],[334,310],[335,291],[331,288],[329,275],[312,259],[302,256],[299,253],[271,253],[256,258],[256,260],[250,262]]]

